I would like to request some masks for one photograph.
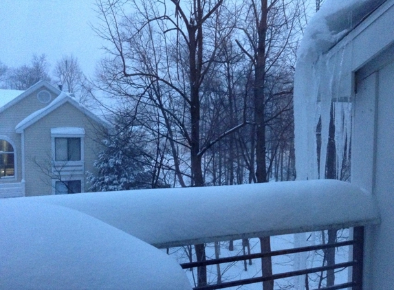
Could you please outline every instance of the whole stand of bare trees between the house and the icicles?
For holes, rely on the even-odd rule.
[[[118,153],[131,158],[120,168],[150,172],[118,188],[295,179],[293,80],[307,3],[98,0],[107,58],[94,85],[116,104],[107,142],[125,138]],[[115,161],[108,156],[96,163],[103,175]],[[260,245],[269,252],[270,238]],[[205,245],[194,249],[206,259]],[[261,269],[272,274],[270,258]],[[197,269],[198,286],[206,271]]]

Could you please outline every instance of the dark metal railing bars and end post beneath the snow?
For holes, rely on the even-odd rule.
[[[191,269],[198,267],[207,267],[212,265],[220,265],[223,263],[234,263],[245,260],[252,260],[257,258],[268,258],[274,256],[283,256],[289,254],[298,254],[303,252],[311,252],[318,250],[336,249],[339,247],[351,246],[351,257],[353,257],[348,262],[336,263],[334,265],[324,265],[321,267],[311,267],[308,269],[300,269],[295,271],[287,271],[284,273],[273,274],[272,276],[265,277],[254,277],[241,280],[232,280],[221,282],[219,284],[211,284],[206,286],[195,287],[195,290],[214,290],[214,289],[226,289],[229,287],[239,287],[243,285],[250,285],[257,282],[273,281],[283,278],[291,278],[295,276],[308,275],[314,273],[322,273],[324,271],[335,270],[335,269],[347,269],[352,267],[351,270],[351,281],[344,282],[338,285],[331,285],[329,287],[320,287],[319,289],[324,290],[335,290],[335,289],[347,289],[352,290],[362,290],[362,264],[363,264],[363,245],[364,245],[364,227],[354,227],[353,228],[353,239],[350,241],[342,241],[337,243],[329,243],[322,245],[311,245],[307,247],[297,247],[292,249],[282,249],[267,253],[256,253],[248,255],[231,256],[226,258],[214,258],[212,260],[204,260],[200,262],[182,263],[181,267],[183,269]],[[198,270],[197,270],[198,271]]]

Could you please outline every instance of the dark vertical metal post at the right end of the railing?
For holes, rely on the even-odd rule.
[[[364,265],[364,227],[353,228],[353,290],[362,290],[362,269]]]

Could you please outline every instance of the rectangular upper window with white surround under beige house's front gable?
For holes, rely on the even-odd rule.
[[[55,161],[80,161],[80,157],[80,138],[55,138]]]

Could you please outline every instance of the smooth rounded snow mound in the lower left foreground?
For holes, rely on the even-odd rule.
[[[0,202],[0,289],[191,289],[160,250],[91,216]]]

